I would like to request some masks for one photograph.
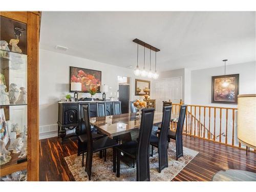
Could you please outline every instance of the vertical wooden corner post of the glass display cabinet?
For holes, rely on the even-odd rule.
[[[27,13],[28,29],[28,181],[39,180],[39,15]]]

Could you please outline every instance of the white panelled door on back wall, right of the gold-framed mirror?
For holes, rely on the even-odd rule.
[[[162,101],[179,103],[182,98],[182,77],[153,80],[151,98],[156,99],[156,111],[159,112],[162,111]]]

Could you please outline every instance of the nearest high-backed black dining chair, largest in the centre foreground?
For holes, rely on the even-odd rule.
[[[120,155],[122,152],[132,159],[136,159],[137,181],[150,181],[149,146],[154,121],[154,113],[154,108],[142,110],[138,142],[126,142],[116,148],[117,177],[120,177]]]

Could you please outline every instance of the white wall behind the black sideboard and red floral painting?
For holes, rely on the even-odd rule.
[[[39,50],[39,137],[57,136],[58,100],[69,92],[69,67],[81,67],[101,71],[101,81],[112,87],[117,93],[117,76],[131,77],[131,99],[135,93],[135,76],[133,69],[125,69],[105,63],[60,54],[47,50]],[[73,94],[73,93],[71,93]],[[106,93],[109,97],[110,92]],[[79,97],[87,97],[88,93],[79,93]],[[98,94],[101,98],[101,94]]]

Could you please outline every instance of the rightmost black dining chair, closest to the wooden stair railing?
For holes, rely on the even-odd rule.
[[[182,130],[183,130],[184,120],[186,116],[186,109],[187,109],[187,105],[181,105],[179,121],[177,124],[176,131],[168,130],[168,134],[167,134],[168,143],[170,142],[170,139],[174,139],[176,142],[176,160],[178,160],[178,158],[183,156]]]

